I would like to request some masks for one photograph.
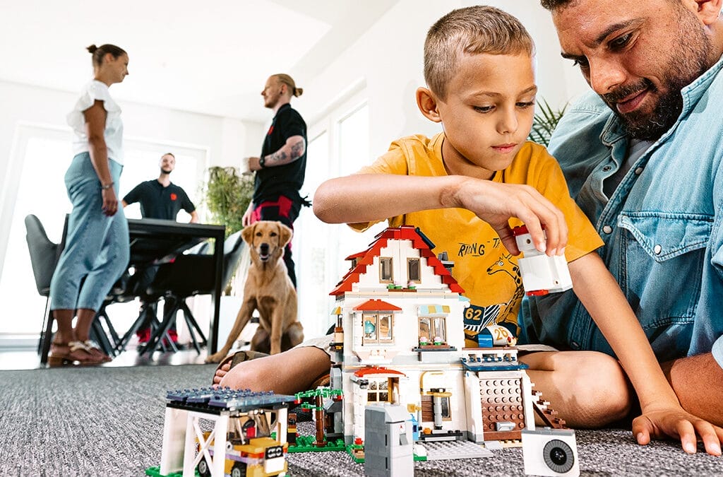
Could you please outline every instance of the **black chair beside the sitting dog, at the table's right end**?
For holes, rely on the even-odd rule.
[[[223,270],[221,272],[222,284],[228,283],[231,275],[239,265],[241,253],[244,250],[244,240],[241,232],[230,235],[223,242]],[[176,319],[176,313],[181,310],[189,328],[191,339],[197,353],[201,353],[201,346],[206,345],[206,337],[186,303],[188,297],[194,295],[210,295],[215,287],[214,257],[213,254],[195,253],[176,257],[173,263],[164,263],[158,268],[153,283],[147,288],[149,297],[164,297],[166,303],[171,303],[168,310],[163,310],[161,326],[151,334],[150,340],[138,352],[142,355],[147,351],[155,351],[159,343],[163,343],[163,335],[168,331],[171,323]],[[165,308],[165,307],[164,307]],[[196,334],[199,339],[197,339]]]

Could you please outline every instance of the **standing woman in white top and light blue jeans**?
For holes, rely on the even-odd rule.
[[[90,325],[129,260],[128,222],[117,196],[123,123],[121,109],[108,93],[109,86],[128,75],[128,54],[114,45],[91,45],[87,50],[93,55],[93,81],[82,89],[67,117],[75,135],[75,156],[65,174],[73,210],[50,288],[58,321],[50,366],[111,360],[90,341]]]

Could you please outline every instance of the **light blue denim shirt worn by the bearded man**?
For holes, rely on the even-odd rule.
[[[628,140],[596,94],[565,112],[549,144],[659,360],[713,349],[723,366],[722,66],[683,89],[677,122],[609,200],[603,180],[625,161]],[[572,290],[526,300],[522,318],[530,342],[613,355]]]

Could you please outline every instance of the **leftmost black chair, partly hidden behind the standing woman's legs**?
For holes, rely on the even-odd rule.
[[[40,329],[40,339],[38,339],[40,363],[46,364],[48,362],[48,353],[53,337],[53,319],[50,312],[50,282],[51,279],[53,279],[60,254],[65,248],[65,237],[68,232],[68,217],[65,217],[63,235],[60,243],[52,242],[48,238],[45,227],[43,227],[38,216],[33,214],[25,216],[25,229],[25,240],[27,240],[27,250],[30,252],[30,263],[33,266],[35,287],[37,287],[40,296],[46,297],[43,327]],[[108,315],[105,313],[106,306],[110,303],[113,303],[111,297],[106,297],[103,306],[93,320],[90,328],[90,337],[98,342],[103,352],[108,355],[115,355],[114,345],[115,342],[118,341],[118,334],[113,324],[111,324],[110,318],[108,318]],[[107,332],[106,329],[103,329],[101,321],[105,321]],[[110,337],[108,337],[108,335],[110,335]]]

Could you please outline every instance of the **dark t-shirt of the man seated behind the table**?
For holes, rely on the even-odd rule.
[[[123,200],[127,204],[140,202],[140,214],[144,219],[176,220],[181,208],[189,214],[196,210],[181,187],[173,183],[163,187],[155,179],[141,182]]]

